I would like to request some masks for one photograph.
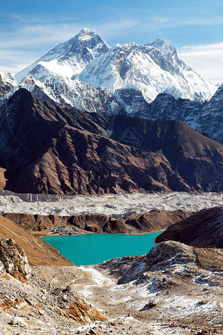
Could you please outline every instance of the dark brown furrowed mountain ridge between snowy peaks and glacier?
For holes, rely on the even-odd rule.
[[[1,110],[0,161],[18,193],[223,190],[223,146],[182,122],[102,117],[25,89]]]

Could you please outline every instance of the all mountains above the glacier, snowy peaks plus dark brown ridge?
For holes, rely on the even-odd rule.
[[[1,188],[223,191],[223,147],[208,138],[223,143],[223,87],[164,40],[112,49],[82,29],[14,77],[0,73],[0,92]]]

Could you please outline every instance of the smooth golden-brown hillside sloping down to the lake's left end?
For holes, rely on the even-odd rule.
[[[31,265],[71,265],[59,252],[49,244],[26,232],[24,229],[0,216],[0,236],[5,239],[13,238],[22,247]]]

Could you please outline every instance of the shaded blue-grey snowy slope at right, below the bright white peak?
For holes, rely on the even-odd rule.
[[[153,103],[132,112],[137,117],[146,119],[179,119],[195,130],[206,133],[213,140],[223,143],[223,85],[205,103],[188,99],[174,98],[170,94],[159,94]]]

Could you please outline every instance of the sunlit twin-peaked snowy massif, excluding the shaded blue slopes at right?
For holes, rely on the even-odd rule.
[[[15,79],[45,100],[107,114],[145,110],[160,93],[203,102],[217,89],[164,40],[112,49],[89,29],[54,47]]]

